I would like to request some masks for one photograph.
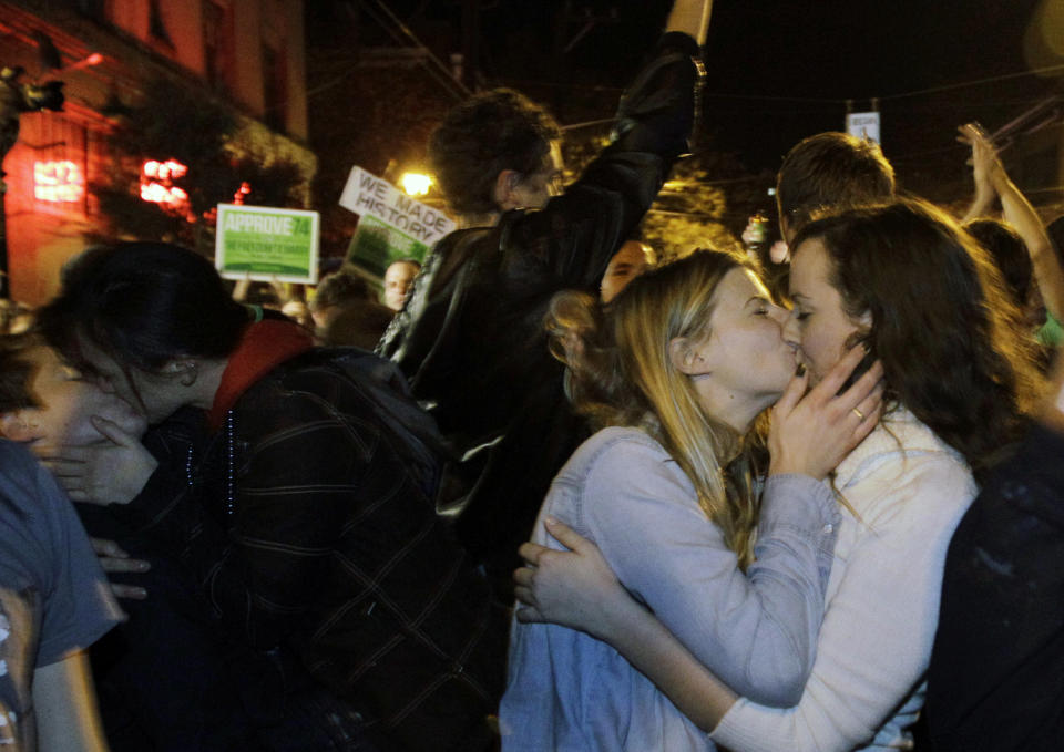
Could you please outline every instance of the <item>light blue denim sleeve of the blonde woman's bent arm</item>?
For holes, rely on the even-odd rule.
[[[583,515],[618,579],[729,687],[788,705],[801,696],[817,629],[838,507],[811,477],[769,481],[747,574],[661,450],[617,444],[587,477]]]

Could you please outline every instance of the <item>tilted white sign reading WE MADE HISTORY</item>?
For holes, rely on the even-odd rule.
[[[439,209],[417,202],[388,181],[351,167],[340,206],[355,214],[368,214],[419,243],[431,246],[456,225]]]

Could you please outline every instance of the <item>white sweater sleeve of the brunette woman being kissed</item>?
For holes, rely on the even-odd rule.
[[[852,492],[878,501],[848,560],[835,564],[845,570],[800,702],[780,710],[740,700],[710,734],[718,745],[734,752],[852,750],[869,742],[920,682],[938,622],[945,550],[974,488],[966,470],[944,455],[910,457],[901,482],[889,475],[866,478]]]

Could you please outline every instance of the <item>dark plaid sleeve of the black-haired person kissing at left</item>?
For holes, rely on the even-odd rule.
[[[316,597],[379,441],[374,426],[341,421],[311,394],[270,396],[238,411],[238,425],[254,427],[232,442],[232,463],[226,429],[216,437],[225,445],[212,453],[221,463],[211,491],[221,497],[186,490],[137,509],[215,614],[257,648],[276,646]]]

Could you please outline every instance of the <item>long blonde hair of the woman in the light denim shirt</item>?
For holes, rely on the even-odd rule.
[[[577,413],[595,429],[634,425],[653,435],[745,567],[759,508],[753,475],[761,436],[740,436],[707,414],[668,354],[677,337],[709,334],[717,286],[738,268],[750,265],[737,254],[699,250],[634,279],[604,309],[590,295],[561,292],[546,327],[551,351],[569,367],[566,394]]]

